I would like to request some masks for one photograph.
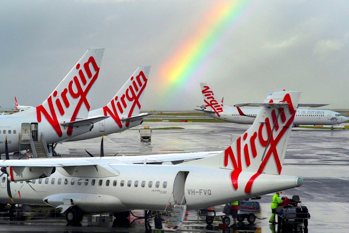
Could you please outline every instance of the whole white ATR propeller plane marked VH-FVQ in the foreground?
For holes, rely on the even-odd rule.
[[[2,160],[0,202],[51,205],[71,223],[86,213],[159,210],[171,215],[168,227],[178,228],[186,210],[298,187],[302,178],[280,174],[299,97],[296,91],[269,94],[255,104],[261,107],[256,120],[231,146],[177,165],[147,163],[200,153]]]

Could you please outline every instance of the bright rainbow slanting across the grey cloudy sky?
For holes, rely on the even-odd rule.
[[[214,1],[210,10],[203,16],[196,31],[180,42],[159,71],[164,86],[173,90],[174,86],[186,84],[196,70],[208,58],[215,45],[222,40],[230,26],[243,12],[246,0]],[[199,85],[199,84],[198,84]]]

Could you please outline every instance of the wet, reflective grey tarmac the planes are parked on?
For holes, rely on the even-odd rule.
[[[348,125],[348,123],[346,123]],[[183,127],[184,129],[153,130],[151,141],[140,141],[139,128]],[[345,125],[345,124],[344,124]],[[342,126],[342,125],[341,125]],[[105,137],[104,154],[146,155],[191,151],[223,150],[231,143],[231,134],[242,134],[249,126],[234,123],[189,123],[189,122],[147,122],[137,129]],[[56,151],[66,156],[99,154],[100,139],[58,144]],[[304,184],[285,190],[282,196],[299,195],[311,215],[308,232],[348,232],[349,223],[349,130],[295,128],[291,132],[282,175],[301,176]],[[190,211],[180,231],[187,232],[278,232],[268,223],[270,202],[273,194],[258,200],[261,213],[254,224],[238,224],[237,227],[221,228],[220,221],[212,226]],[[223,206],[215,207],[221,211]],[[109,216],[87,216],[81,225],[68,225],[64,216],[50,207],[18,208],[0,212],[0,229],[6,232],[158,232],[154,221],[144,224],[144,219],[131,217],[115,220]],[[143,216],[143,211],[134,211]],[[165,224],[162,224],[165,227]],[[280,231],[279,231],[280,232]],[[297,231],[292,227],[283,232],[306,232],[301,225]]]

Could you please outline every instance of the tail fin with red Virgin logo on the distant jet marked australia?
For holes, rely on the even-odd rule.
[[[208,111],[214,111],[217,114],[217,116],[220,117],[220,113],[224,111],[225,107],[225,105],[223,104],[223,98],[222,100],[218,98],[207,85],[207,83],[200,83],[200,86],[203,101],[205,101],[203,107],[206,107],[206,110]]]

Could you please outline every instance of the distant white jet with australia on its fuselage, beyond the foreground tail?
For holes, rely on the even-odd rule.
[[[253,104],[234,105],[236,108],[221,103],[221,100],[214,94],[206,83],[200,83],[201,92],[205,104],[198,106],[205,115],[239,124],[252,124],[259,112],[259,109],[240,109],[242,106],[253,106]],[[321,107],[327,104],[299,104],[298,107]],[[342,114],[320,109],[297,109],[294,126],[298,125],[339,125],[348,121]]]

